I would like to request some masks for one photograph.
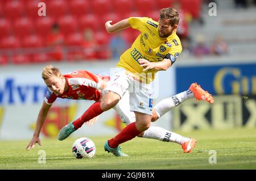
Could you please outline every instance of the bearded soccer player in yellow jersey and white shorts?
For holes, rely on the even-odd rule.
[[[133,139],[150,127],[152,117],[152,81],[159,70],[167,70],[177,60],[182,47],[176,35],[179,14],[168,7],[160,10],[159,21],[151,18],[123,19],[118,23],[105,23],[106,31],[114,33],[129,27],[141,32],[131,48],[120,57],[117,68],[112,71],[110,83],[101,100],[103,111],[114,107],[126,91],[130,93],[130,110],[136,121],[125,127],[117,136],[106,141],[104,148],[117,157],[127,157],[119,144]],[[191,139],[188,146],[195,144]]]

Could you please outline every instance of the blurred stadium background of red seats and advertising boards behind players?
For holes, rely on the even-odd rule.
[[[38,16],[39,2],[46,16]],[[209,3],[217,5],[210,16]],[[0,0],[0,140],[29,140],[46,92],[40,74],[52,64],[68,73],[87,69],[109,74],[139,33],[131,28],[108,34],[106,20],[149,16],[174,6],[180,13],[183,44],[179,60],[158,75],[155,103],[199,83],[215,103],[188,100],[154,125],[177,131],[256,127],[256,1],[203,0]],[[41,137],[79,117],[90,101],[58,100]],[[92,127],[72,134],[115,134],[123,124],[114,111]],[[1,143],[1,142],[0,142]],[[25,145],[24,145],[25,146]]]

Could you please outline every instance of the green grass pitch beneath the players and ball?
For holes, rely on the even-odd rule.
[[[76,159],[71,151],[75,137],[42,139],[42,146],[30,151],[25,149],[29,140],[0,141],[0,169],[256,169],[256,129],[176,132],[197,140],[192,153],[171,142],[134,138],[121,145],[130,157],[118,158],[103,148],[112,136],[88,136],[96,144],[96,155]],[[46,163],[38,163],[39,150],[46,151]],[[209,150],[216,150],[217,163],[209,163]]]

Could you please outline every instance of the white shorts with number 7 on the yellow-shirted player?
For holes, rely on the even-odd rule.
[[[137,81],[137,78],[129,71],[115,68],[110,75],[110,81],[104,93],[107,91],[115,92],[121,98],[128,91],[130,111],[152,115],[153,93],[151,85]]]

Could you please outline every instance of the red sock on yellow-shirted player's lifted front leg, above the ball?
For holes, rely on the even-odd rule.
[[[92,106],[90,106],[88,110],[86,110],[85,113],[83,113],[82,116],[79,117],[79,119],[73,121],[72,124],[75,126],[75,129],[79,129],[86,121],[89,121],[93,119],[93,117],[96,117],[104,112],[101,110],[100,104],[100,101],[92,104]]]

